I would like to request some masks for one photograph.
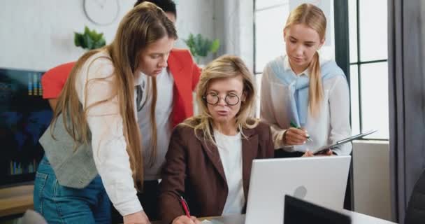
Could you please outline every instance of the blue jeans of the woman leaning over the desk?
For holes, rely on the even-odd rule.
[[[44,156],[34,182],[34,210],[48,223],[110,223],[110,202],[101,177],[85,188],[61,186]]]

